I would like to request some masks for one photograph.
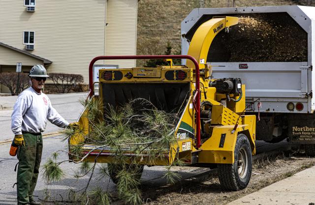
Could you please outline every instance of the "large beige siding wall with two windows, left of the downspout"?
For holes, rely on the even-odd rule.
[[[82,74],[88,82],[91,59],[104,55],[105,0],[0,0],[0,42],[24,49],[23,31],[35,32],[32,54],[53,61],[48,72]]]

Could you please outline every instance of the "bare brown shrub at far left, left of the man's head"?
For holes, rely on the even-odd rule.
[[[24,89],[29,87],[30,79],[27,73],[19,74],[19,83],[18,83],[18,73],[16,72],[4,72],[0,73],[0,84],[9,88],[11,95],[19,94]],[[18,92],[16,92],[17,85],[19,85]]]

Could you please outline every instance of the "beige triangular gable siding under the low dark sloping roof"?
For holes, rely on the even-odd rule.
[[[25,54],[19,53],[12,49],[0,46],[0,65],[16,65],[17,62],[22,62],[23,65],[43,64],[43,61],[32,58]]]

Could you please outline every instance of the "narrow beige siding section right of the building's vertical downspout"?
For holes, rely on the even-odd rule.
[[[106,55],[135,55],[137,0],[107,0]],[[135,60],[110,60],[106,64],[134,67]]]

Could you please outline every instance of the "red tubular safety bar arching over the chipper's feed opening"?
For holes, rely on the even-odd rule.
[[[196,110],[196,135],[197,135],[197,148],[200,147],[200,84],[199,84],[199,64],[196,59],[189,55],[142,55],[142,56],[98,56],[91,60],[89,66],[89,96],[94,95],[94,84],[93,84],[93,65],[97,60],[115,60],[115,59],[189,59],[195,65],[196,70],[196,85],[195,95],[193,98],[193,107]]]

